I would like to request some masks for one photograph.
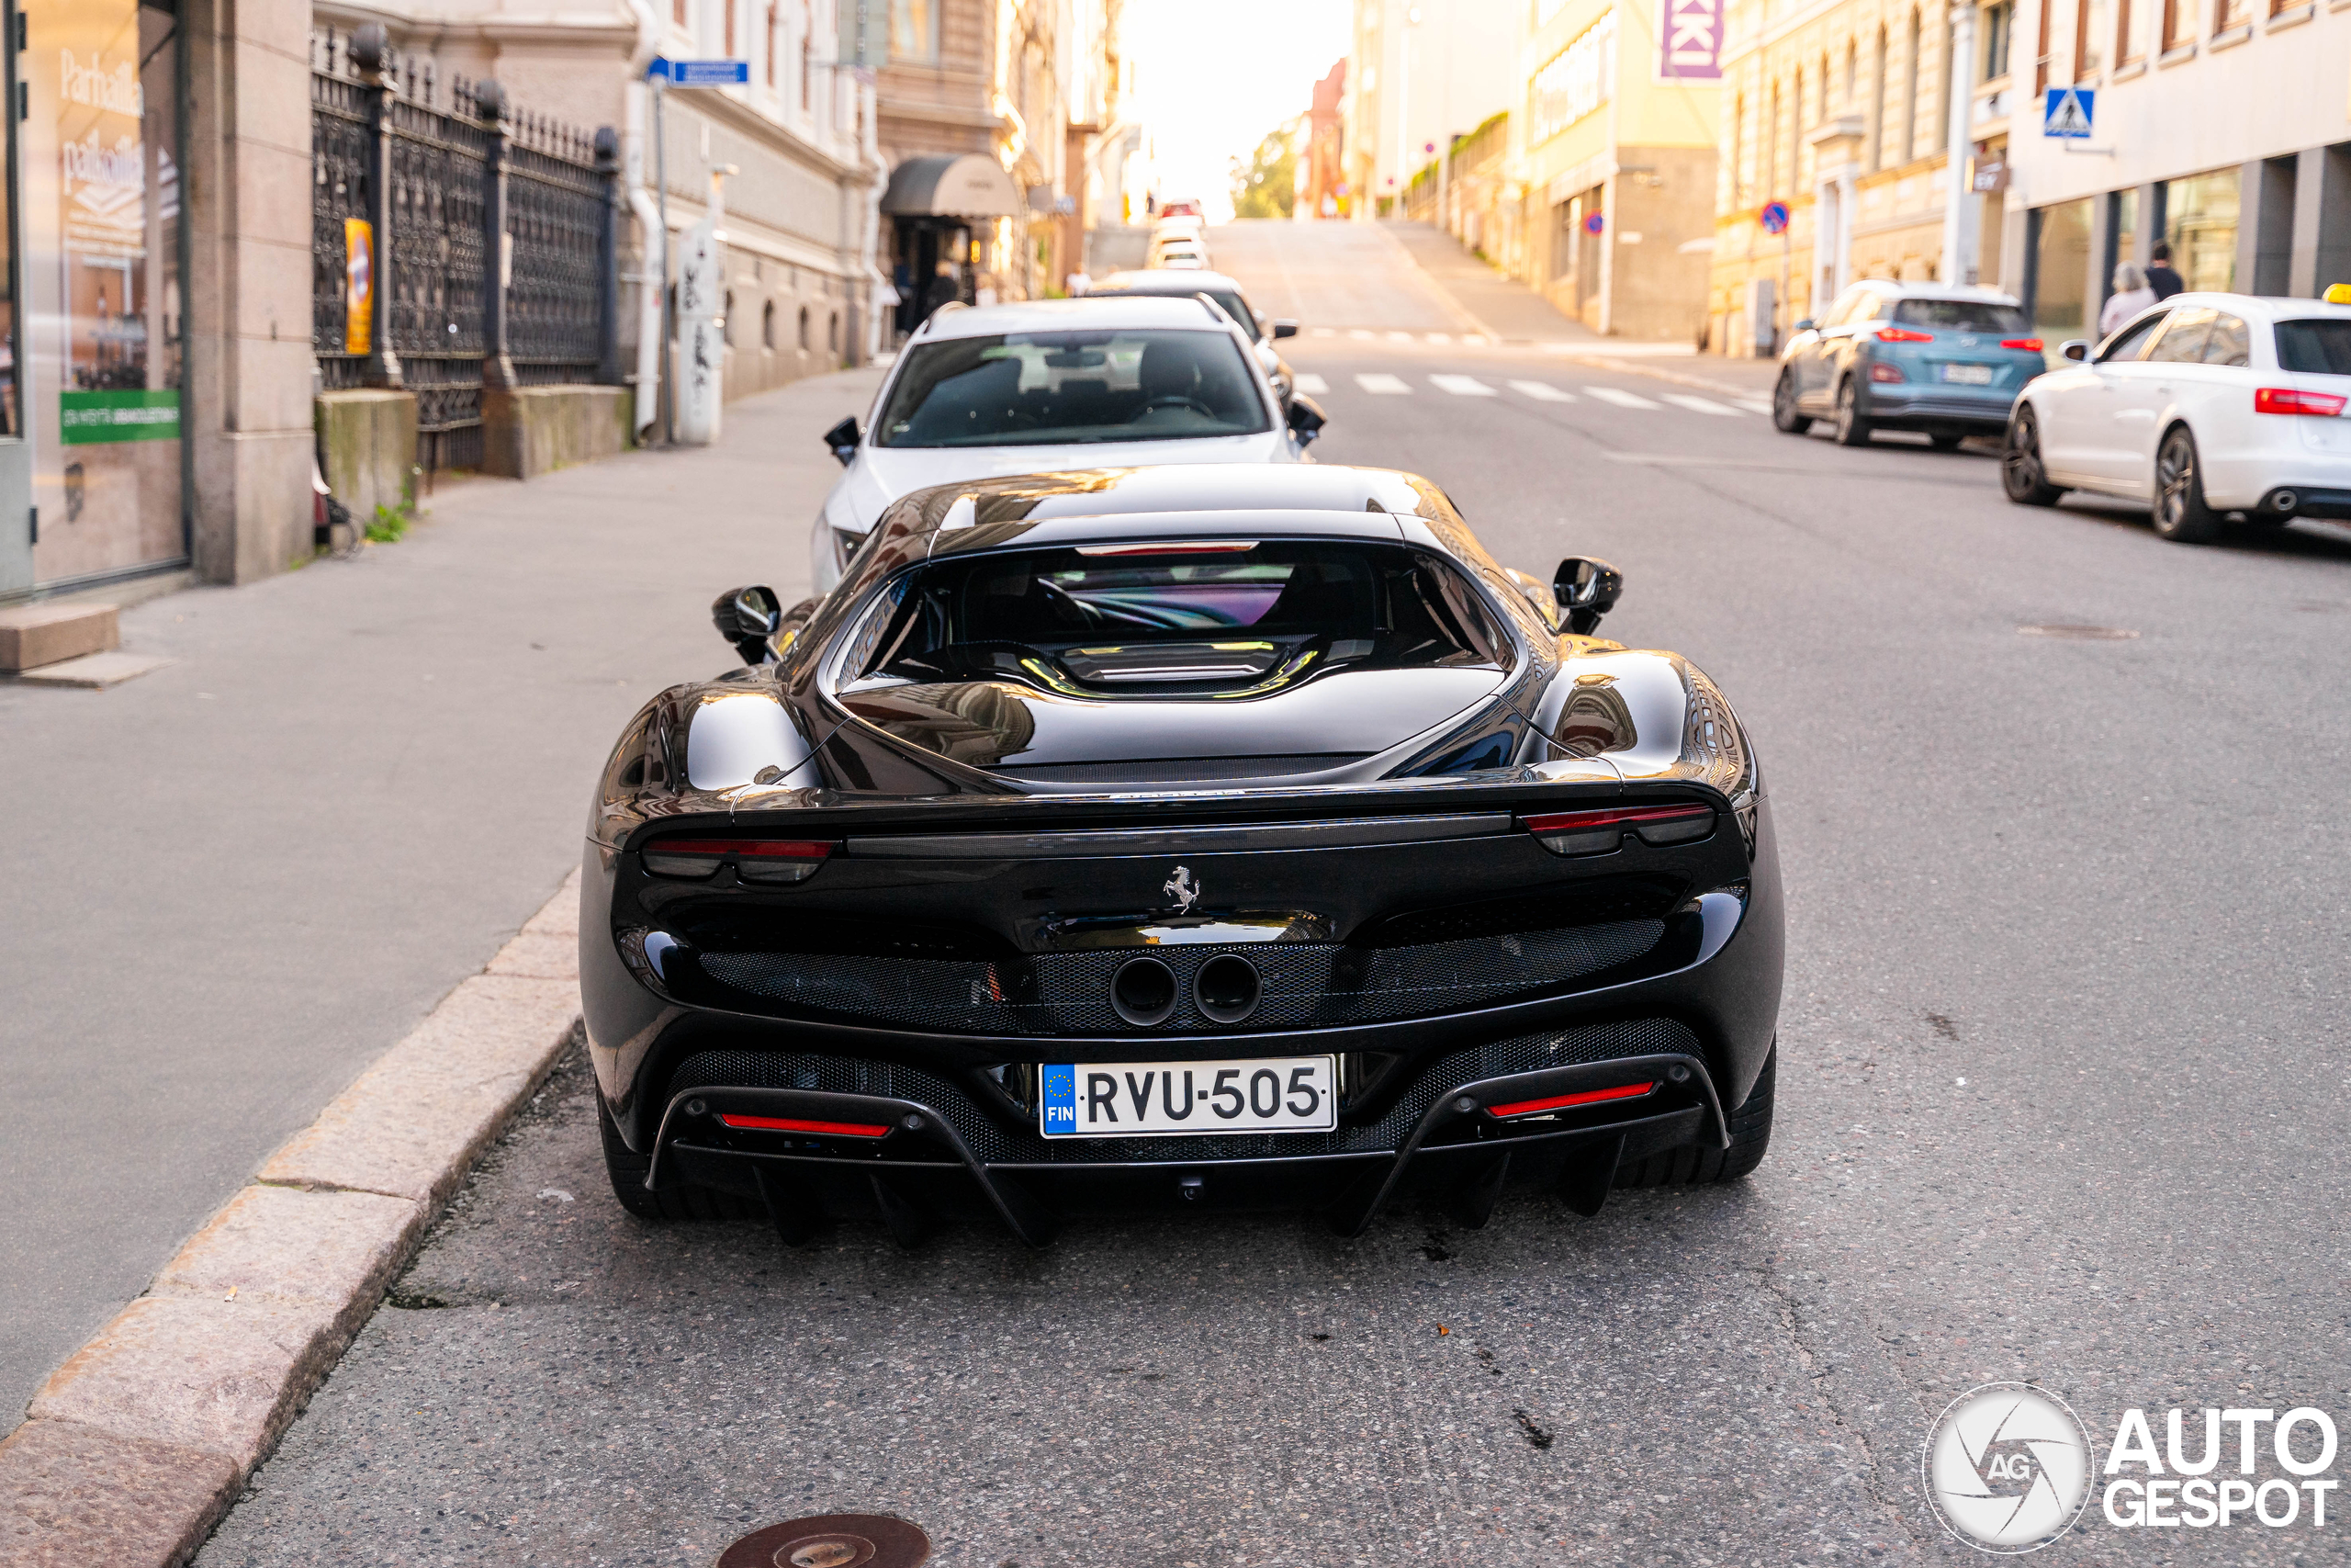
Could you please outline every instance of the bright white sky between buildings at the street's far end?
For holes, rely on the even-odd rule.
[[[1349,19],[1349,0],[1126,0],[1119,47],[1136,61],[1159,195],[1230,219],[1232,160],[1314,103]]]

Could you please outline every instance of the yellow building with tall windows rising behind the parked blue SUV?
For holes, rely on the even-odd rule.
[[[1951,66],[1968,63],[1963,99],[1989,94],[1961,106],[1961,181],[1998,190],[2012,16],[2012,0],[1728,0],[1716,353],[1777,353],[1857,277],[2001,282],[2001,202],[1965,202],[1963,223],[1947,223]],[[1789,212],[1780,235],[1763,223],[1773,202]]]

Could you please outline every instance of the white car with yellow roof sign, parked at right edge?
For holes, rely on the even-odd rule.
[[[2059,353],[2010,416],[2010,501],[2146,501],[2156,531],[2184,543],[2231,512],[2351,517],[2351,306],[2175,294],[2095,350]]]

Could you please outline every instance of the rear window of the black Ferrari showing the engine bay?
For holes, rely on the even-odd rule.
[[[922,567],[851,639],[844,684],[1253,684],[1331,665],[1495,665],[1467,578],[1401,545],[1183,541]]]

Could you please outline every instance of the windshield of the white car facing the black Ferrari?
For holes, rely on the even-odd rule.
[[[1009,331],[907,355],[877,444],[1173,442],[1270,428],[1223,331]]]

